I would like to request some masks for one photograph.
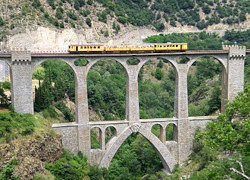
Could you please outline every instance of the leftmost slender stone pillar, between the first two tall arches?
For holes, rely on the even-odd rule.
[[[88,94],[87,94],[87,67],[75,66],[76,71],[76,122],[78,124],[78,149],[90,157],[90,127]]]

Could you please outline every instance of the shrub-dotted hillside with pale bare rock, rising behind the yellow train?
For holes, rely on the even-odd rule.
[[[250,27],[249,1],[19,0],[0,2],[0,42],[32,50],[73,43],[140,44],[158,32]]]

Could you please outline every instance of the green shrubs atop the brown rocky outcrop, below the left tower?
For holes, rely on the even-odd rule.
[[[29,135],[34,131],[33,116],[18,113],[0,113],[0,142],[9,142],[19,135]]]

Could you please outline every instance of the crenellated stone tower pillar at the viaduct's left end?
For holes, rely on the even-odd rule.
[[[11,61],[11,103],[16,112],[33,114],[31,54],[13,51]]]

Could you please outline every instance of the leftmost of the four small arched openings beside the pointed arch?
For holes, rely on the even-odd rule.
[[[98,127],[93,127],[90,130],[91,149],[102,148],[102,130]]]

